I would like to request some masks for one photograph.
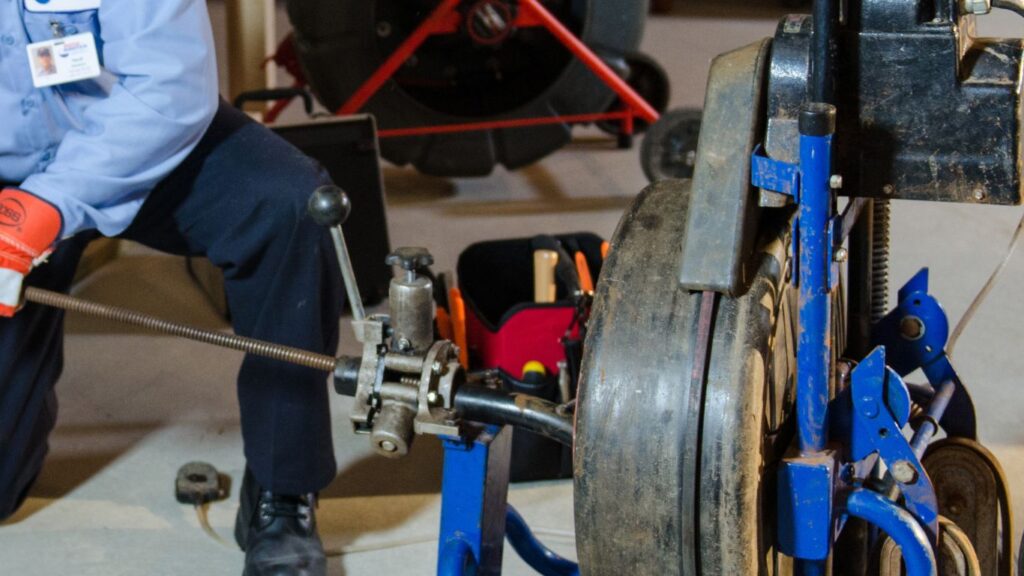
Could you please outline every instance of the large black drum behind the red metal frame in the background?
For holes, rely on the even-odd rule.
[[[317,98],[330,110],[340,108],[435,5],[435,0],[290,0],[299,57]],[[546,0],[545,5],[598,53],[608,54],[636,50],[647,11],[646,0]],[[387,25],[379,28],[381,22]],[[400,83],[389,81],[365,107],[381,128],[601,112],[613,98],[543,29],[517,31],[499,48],[474,45],[464,35],[434,38],[419,58],[421,80],[436,81],[447,67],[458,74],[446,84],[424,87],[404,67]],[[490,60],[507,65],[501,80],[478,70]],[[535,162],[569,137],[568,125],[555,124],[386,138],[381,154],[429,174],[474,176],[499,163],[517,168]]]

